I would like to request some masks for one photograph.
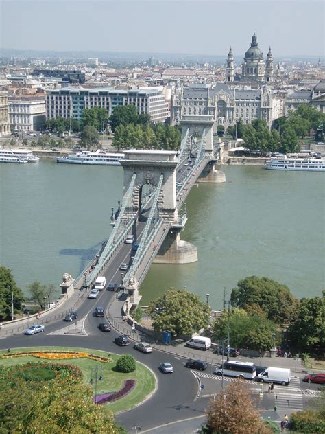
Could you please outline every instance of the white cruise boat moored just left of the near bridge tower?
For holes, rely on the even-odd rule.
[[[69,154],[68,157],[56,157],[57,163],[70,164],[94,164],[94,165],[119,165],[124,159],[124,154],[115,154],[97,149],[95,152],[83,150],[75,154]]]

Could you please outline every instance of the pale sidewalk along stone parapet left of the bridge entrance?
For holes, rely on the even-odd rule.
[[[86,293],[80,293],[79,290],[73,290],[73,294],[69,298],[63,299],[56,304],[56,306],[53,306],[50,309],[43,310],[39,318],[38,315],[35,314],[22,319],[3,323],[0,327],[0,338],[6,338],[13,334],[20,334],[32,324],[47,325],[52,321],[63,318],[67,315],[69,310],[75,310],[84,297],[86,297]]]

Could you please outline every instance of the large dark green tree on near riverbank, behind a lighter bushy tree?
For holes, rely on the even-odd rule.
[[[256,304],[268,319],[282,324],[296,314],[298,300],[289,288],[267,277],[246,277],[231,292],[231,304],[245,309]]]

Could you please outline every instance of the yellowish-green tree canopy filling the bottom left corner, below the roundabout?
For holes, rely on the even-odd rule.
[[[0,389],[0,433],[119,433],[113,415],[93,402],[91,387],[73,375],[25,380],[18,369],[8,375],[0,367]]]

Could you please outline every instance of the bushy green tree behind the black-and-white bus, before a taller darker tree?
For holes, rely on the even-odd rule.
[[[264,316],[248,313],[243,309],[233,308],[229,312],[229,334],[232,347],[248,350],[269,350],[272,347],[272,333],[276,324]],[[224,310],[213,324],[213,333],[217,341],[228,337],[228,312]]]

